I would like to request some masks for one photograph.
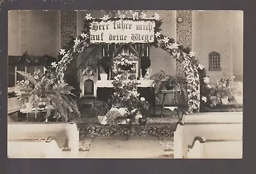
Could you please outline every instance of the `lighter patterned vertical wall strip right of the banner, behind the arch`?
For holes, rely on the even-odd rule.
[[[182,18],[182,22],[176,23],[176,40],[180,45],[192,48],[192,18],[191,10],[177,10],[177,19]],[[181,72],[182,67],[176,63],[176,74],[184,75]]]

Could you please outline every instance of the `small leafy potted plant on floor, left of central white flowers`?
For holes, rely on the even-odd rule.
[[[111,108],[110,104],[107,102],[102,102],[99,100],[95,100],[92,104],[92,109],[95,111],[99,123],[102,122],[104,116],[108,113],[109,109]]]

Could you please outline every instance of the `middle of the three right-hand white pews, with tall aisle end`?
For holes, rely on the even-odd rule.
[[[243,139],[243,123],[179,122],[174,132],[174,158],[186,158],[196,136],[207,139]]]

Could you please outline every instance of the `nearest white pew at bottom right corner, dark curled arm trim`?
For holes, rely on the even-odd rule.
[[[205,139],[200,136],[188,145],[188,159],[241,159],[243,140]]]

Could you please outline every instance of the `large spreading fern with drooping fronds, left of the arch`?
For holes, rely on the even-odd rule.
[[[63,122],[81,116],[75,100],[76,96],[70,91],[74,88],[56,78],[53,72],[49,75],[40,74],[40,71],[36,71],[33,75],[20,71],[17,71],[17,73],[24,77],[26,84],[29,86],[29,90],[26,90],[28,99],[22,97],[25,88],[20,88],[19,84],[13,88],[8,88],[8,93],[14,91],[19,99],[27,100],[35,108],[38,108],[40,98],[44,97],[46,99],[45,109],[47,109],[45,119],[49,118],[51,113],[54,114],[53,117],[57,121],[61,120]]]

